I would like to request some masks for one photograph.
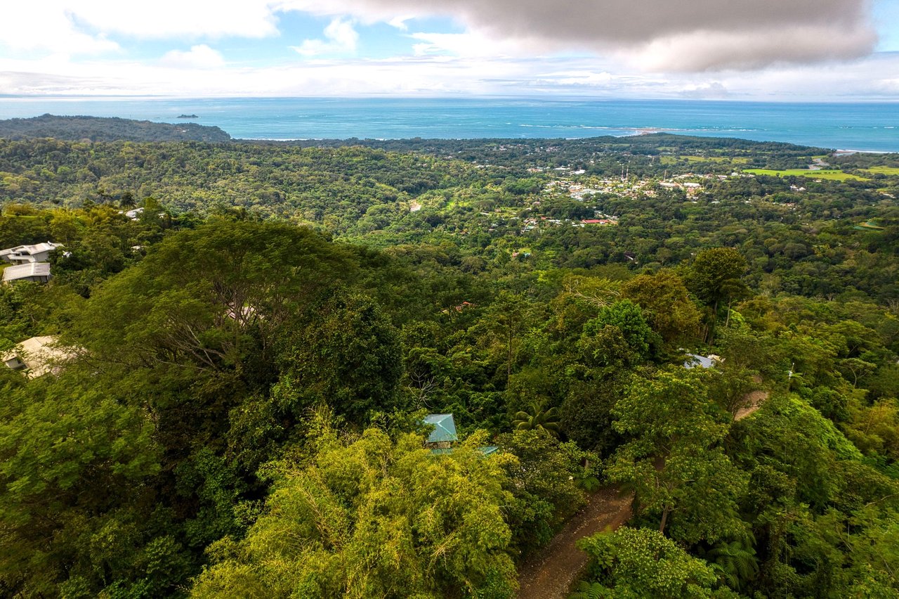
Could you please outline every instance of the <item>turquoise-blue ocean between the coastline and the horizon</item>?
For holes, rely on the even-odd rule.
[[[899,103],[411,98],[0,97],[0,118],[44,113],[216,125],[241,139],[588,138],[667,131],[899,152]],[[196,119],[178,119],[196,115]]]

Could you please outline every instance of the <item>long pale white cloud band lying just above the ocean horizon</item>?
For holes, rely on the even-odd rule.
[[[319,59],[281,67],[239,64],[175,68],[129,60],[72,63],[0,58],[7,94],[163,94],[184,97],[303,95],[581,95],[588,98],[704,97],[734,100],[895,99],[899,53],[823,67],[639,74],[620,61],[582,58],[422,56],[383,60]]]

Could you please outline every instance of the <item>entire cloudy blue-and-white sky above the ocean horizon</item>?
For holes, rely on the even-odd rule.
[[[0,95],[899,100],[899,0],[22,0]]]

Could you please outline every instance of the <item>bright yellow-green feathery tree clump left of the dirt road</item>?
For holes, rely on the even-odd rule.
[[[306,466],[284,462],[245,539],[218,541],[191,595],[511,597],[504,468],[472,435],[433,455],[420,436],[325,433]]]

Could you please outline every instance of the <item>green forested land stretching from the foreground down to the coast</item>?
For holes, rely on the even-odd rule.
[[[895,156],[367,145],[0,141],[4,595],[513,597],[608,486],[577,596],[899,592]]]

